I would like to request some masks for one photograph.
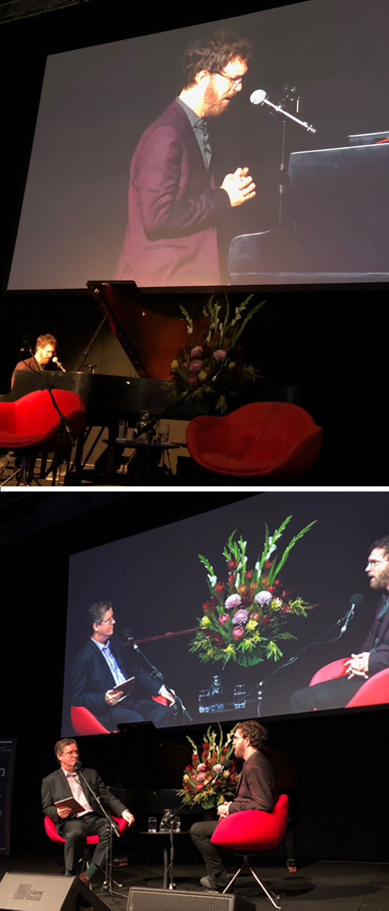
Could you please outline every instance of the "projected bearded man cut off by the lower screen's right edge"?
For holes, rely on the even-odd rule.
[[[365,571],[370,588],[383,590],[374,623],[358,653],[346,662],[346,674],[292,693],[292,711],[343,708],[380,670],[389,667],[389,535],[374,541]]]

